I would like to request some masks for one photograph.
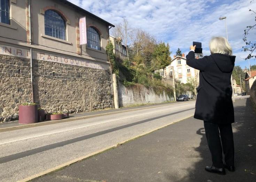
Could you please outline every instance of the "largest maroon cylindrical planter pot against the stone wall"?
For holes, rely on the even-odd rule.
[[[38,121],[37,105],[19,106],[19,124],[30,124]]]

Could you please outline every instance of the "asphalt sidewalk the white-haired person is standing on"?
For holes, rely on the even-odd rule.
[[[177,122],[33,181],[236,182],[256,179],[256,113],[250,99],[234,103],[235,172],[207,173],[210,152],[203,122]]]

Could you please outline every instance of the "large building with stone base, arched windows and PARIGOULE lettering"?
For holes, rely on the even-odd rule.
[[[17,119],[24,102],[47,112],[113,107],[105,50],[113,24],[67,0],[0,1],[0,121]]]

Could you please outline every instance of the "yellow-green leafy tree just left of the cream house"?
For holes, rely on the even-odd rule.
[[[167,45],[165,45],[165,43],[159,43],[153,52],[153,66],[155,66],[157,69],[164,70],[166,66],[171,64],[170,54],[171,52],[169,44],[167,43]]]

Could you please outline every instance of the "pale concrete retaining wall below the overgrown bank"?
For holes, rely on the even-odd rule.
[[[173,100],[174,98],[169,97],[164,91],[162,94],[156,94],[152,88],[146,88],[143,85],[134,85],[127,88],[121,82],[118,82],[120,107],[135,104],[163,103]]]

